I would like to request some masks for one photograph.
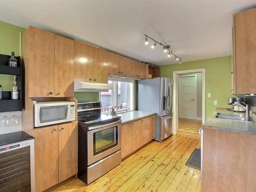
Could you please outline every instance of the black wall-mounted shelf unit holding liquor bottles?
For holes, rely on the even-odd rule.
[[[2,100],[0,100],[0,112],[9,112],[9,111],[22,111],[23,104],[23,70],[22,62],[19,56],[15,57],[17,59],[17,67],[9,66],[10,55],[0,54],[0,74],[6,75],[16,75],[17,83],[20,87],[19,99],[11,99],[11,91],[2,92]],[[1,82],[0,82],[1,84]]]

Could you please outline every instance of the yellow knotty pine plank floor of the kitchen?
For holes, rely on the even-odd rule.
[[[90,185],[70,178],[48,191],[201,191],[200,170],[187,167],[187,159],[200,140],[172,136],[148,144]]]

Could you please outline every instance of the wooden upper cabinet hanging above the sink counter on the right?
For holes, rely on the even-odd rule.
[[[256,8],[233,15],[234,93],[256,93]]]

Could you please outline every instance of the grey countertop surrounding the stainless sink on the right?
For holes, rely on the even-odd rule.
[[[245,115],[244,112],[233,112],[225,108],[217,108],[214,113],[205,121],[202,129],[215,129],[220,131],[228,131],[234,133],[243,133],[248,135],[256,135],[256,122],[255,121],[237,121],[229,119],[215,118],[217,113],[238,113]]]

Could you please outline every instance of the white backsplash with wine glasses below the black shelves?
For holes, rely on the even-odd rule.
[[[22,112],[0,113],[0,135],[22,131]]]

